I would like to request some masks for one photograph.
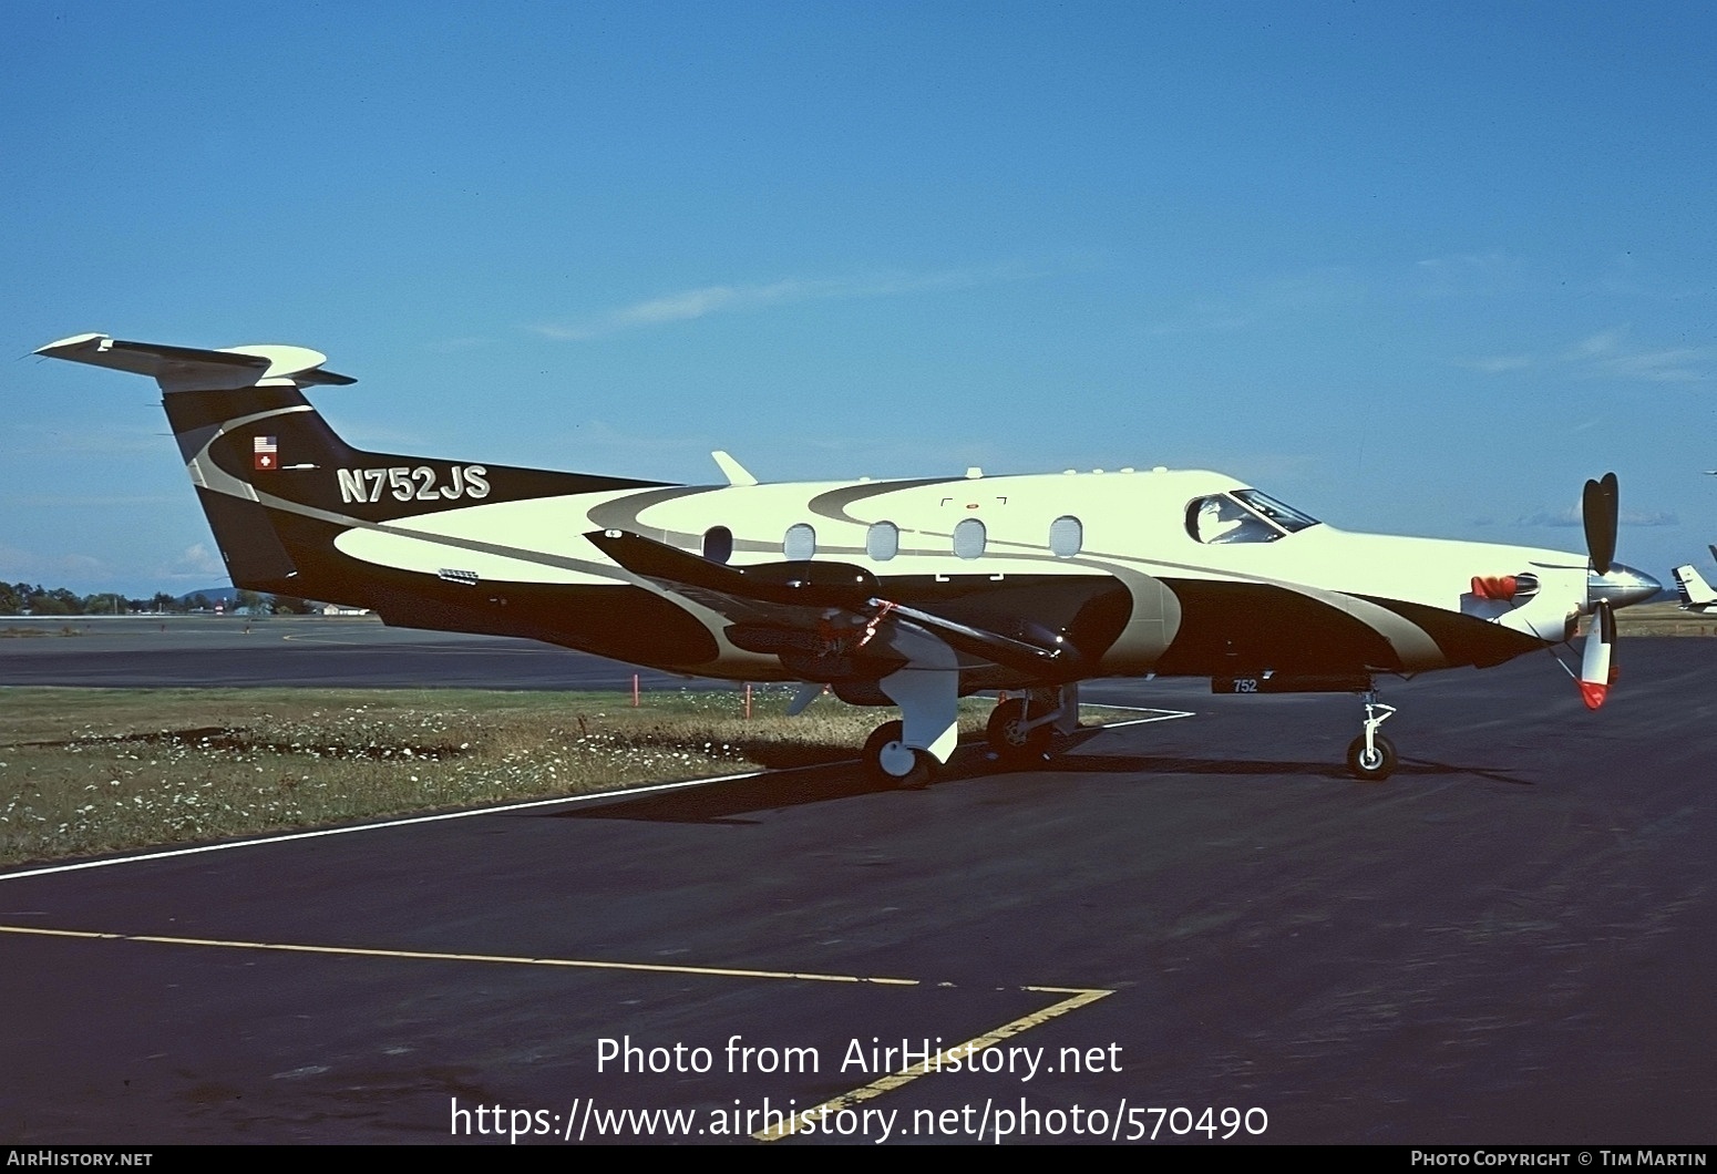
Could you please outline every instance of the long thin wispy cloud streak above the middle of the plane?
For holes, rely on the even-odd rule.
[[[664,294],[632,306],[572,323],[534,326],[539,335],[563,342],[589,342],[628,330],[668,323],[685,323],[711,314],[743,314],[824,299],[896,297],[925,290],[958,290],[994,281],[1039,276],[1042,269],[1001,264],[979,269],[939,269],[932,273],[881,273],[852,278],[786,278],[766,285],[706,285],[695,290]]]

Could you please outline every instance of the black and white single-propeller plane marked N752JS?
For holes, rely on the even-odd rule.
[[[1078,683],[1207,676],[1216,692],[1363,697],[1348,766],[1396,766],[1386,676],[1569,640],[1611,683],[1614,609],[1659,584],[1614,561],[1616,477],[1587,482],[1588,554],[1344,534],[1214,472],[1121,470],[671,486],[347,446],[304,388],[354,383],[302,347],[192,350],[79,335],[41,355],[153,376],[232,582],[390,625],[529,637],[673,673],[831,687],[898,705],[884,781],[948,760],[956,704],[1006,690],[1003,760],[1078,724]]]

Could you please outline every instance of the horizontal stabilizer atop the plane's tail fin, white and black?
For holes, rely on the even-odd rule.
[[[124,342],[108,335],[77,335],[48,343],[36,354],[144,374],[161,384],[161,391],[227,391],[264,381],[299,386],[357,383],[352,376],[323,371],[321,364],[328,362],[328,355],[309,347],[259,345],[199,350],[196,347]]]

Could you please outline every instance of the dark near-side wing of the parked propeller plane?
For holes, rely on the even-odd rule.
[[[728,638],[774,652],[807,680],[876,678],[910,663],[922,632],[977,664],[1034,680],[1077,680],[1083,659],[1063,637],[1018,638],[994,628],[886,599],[876,575],[852,563],[783,561],[725,566],[627,530],[585,536],[620,566],[733,620]],[[828,664],[805,664],[805,657]],[[807,669],[836,676],[810,676]]]

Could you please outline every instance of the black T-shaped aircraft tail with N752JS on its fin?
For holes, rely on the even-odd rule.
[[[352,527],[476,505],[656,482],[355,450],[302,388],[345,386],[307,347],[197,350],[77,335],[38,355],[151,376],[239,587],[366,604],[335,539]]]

